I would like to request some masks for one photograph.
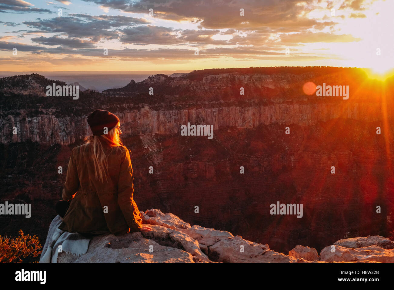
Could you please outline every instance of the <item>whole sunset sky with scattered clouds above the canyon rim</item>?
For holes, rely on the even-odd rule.
[[[385,72],[394,64],[393,12],[393,0],[1,0],[0,71]]]

